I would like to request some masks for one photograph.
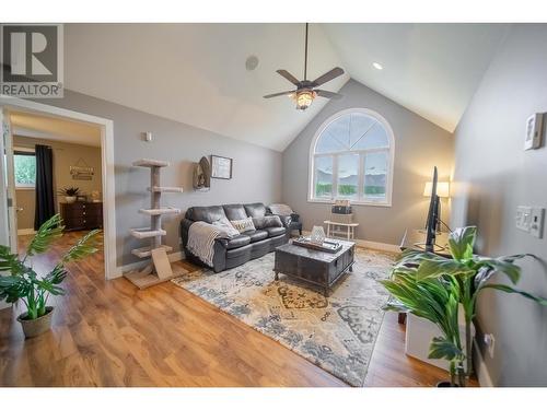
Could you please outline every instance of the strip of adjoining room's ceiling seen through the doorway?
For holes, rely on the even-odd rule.
[[[15,136],[101,147],[101,129],[89,124],[22,112],[11,113],[10,121]]]

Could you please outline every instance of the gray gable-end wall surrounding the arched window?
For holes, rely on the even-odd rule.
[[[315,132],[331,115],[347,108],[369,108],[381,114],[395,136],[392,207],[353,206],[356,235],[360,239],[399,244],[406,227],[424,224],[429,198],[423,185],[438,165],[440,180],[449,180],[453,166],[453,136],[397,103],[350,80],[340,90],[344,98],[330,101],[283,152],[283,201],[301,213],[304,229],[323,224],[330,204],[307,202],[309,153]],[[305,115],[306,113],[303,113]],[[449,203],[443,201],[449,218]]]

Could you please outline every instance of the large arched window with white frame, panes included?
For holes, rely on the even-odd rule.
[[[394,142],[389,124],[370,109],[328,118],[310,149],[309,199],[391,206]]]

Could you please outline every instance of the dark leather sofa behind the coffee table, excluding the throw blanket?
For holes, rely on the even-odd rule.
[[[190,225],[197,221],[212,223],[225,216],[230,221],[242,220],[252,216],[259,220],[268,215],[268,209],[264,203],[234,203],[214,207],[193,207],[186,211],[181,221],[181,238],[186,259],[193,263],[203,263],[186,249],[188,244],[188,231]],[[276,247],[289,241],[291,218],[280,218],[282,226],[257,229],[246,232],[233,238],[218,238],[214,241],[213,270],[221,272],[225,269],[243,265],[251,259],[259,258]]]

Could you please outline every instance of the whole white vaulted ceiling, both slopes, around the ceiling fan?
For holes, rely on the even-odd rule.
[[[452,131],[507,30],[311,24],[307,77],[339,66],[347,73],[322,89],[339,91],[351,77]],[[69,24],[66,86],[282,151],[327,103],[299,112],[287,97],[261,97],[292,89],[277,69],[303,77],[303,24]]]

